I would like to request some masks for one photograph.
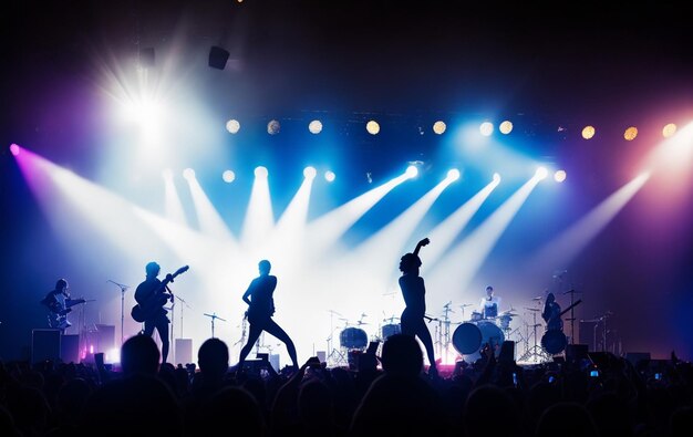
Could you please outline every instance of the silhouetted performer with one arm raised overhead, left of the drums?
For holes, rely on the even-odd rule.
[[[424,279],[418,275],[418,268],[422,264],[418,251],[428,242],[431,241],[427,238],[418,241],[414,253],[405,253],[400,260],[400,271],[402,271],[400,289],[406,305],[404,312],[402,312],[402,334],[417,336],[421,340],[426,348],[426,355],[431,364],[428,374],[436,375],[437,368],[433,355],[433,339],[431,339],[431,333],[424,322],[426,287],[424,285]]]

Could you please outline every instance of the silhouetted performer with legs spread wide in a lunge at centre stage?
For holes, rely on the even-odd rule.
[[[258,341],[262,331],[267,331],[271,335],[287,345],[287,352],[293,362],[293,367],[299,368],[298,360],[296,357],[296,346],[285,332],[272,320],[275,314],[275,300],[272,294],[277,288],[277,277],[269,274],[272,266],[268,260],[262,260],[258,263],[260,275],[254,279],[248,287],[248,290],[242,295],[244,302],[248,304],[248,323],[250,324],[250,332],[248,333],[248,343],[240,350],[240,360],[238,362],[238,371],[242,371],[244,362],[250,353],[250,350]]]

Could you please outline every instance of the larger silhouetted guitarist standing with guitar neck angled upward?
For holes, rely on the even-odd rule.
[[[148,310],[146,311],[147,318],[144,321],[144,330],[142,334],[152,336],[154,334],[154,329],[158,332],[158,336],[162,340],[162,363],[166,363],[166,358],[168,357],[168,323],[169,320],[166,316],[168,311],[164,309],[165,301],[161,301],[158,295],[163,294],[166,285],[162,284],[159,281],[158,273],[161,271],[161,266],[154,261],[147,263],[145,267],[146,279],[137,285],[135,290],[135,301],[142,306],[146,306]],[[173,298],[173,294],[172,294]]]

